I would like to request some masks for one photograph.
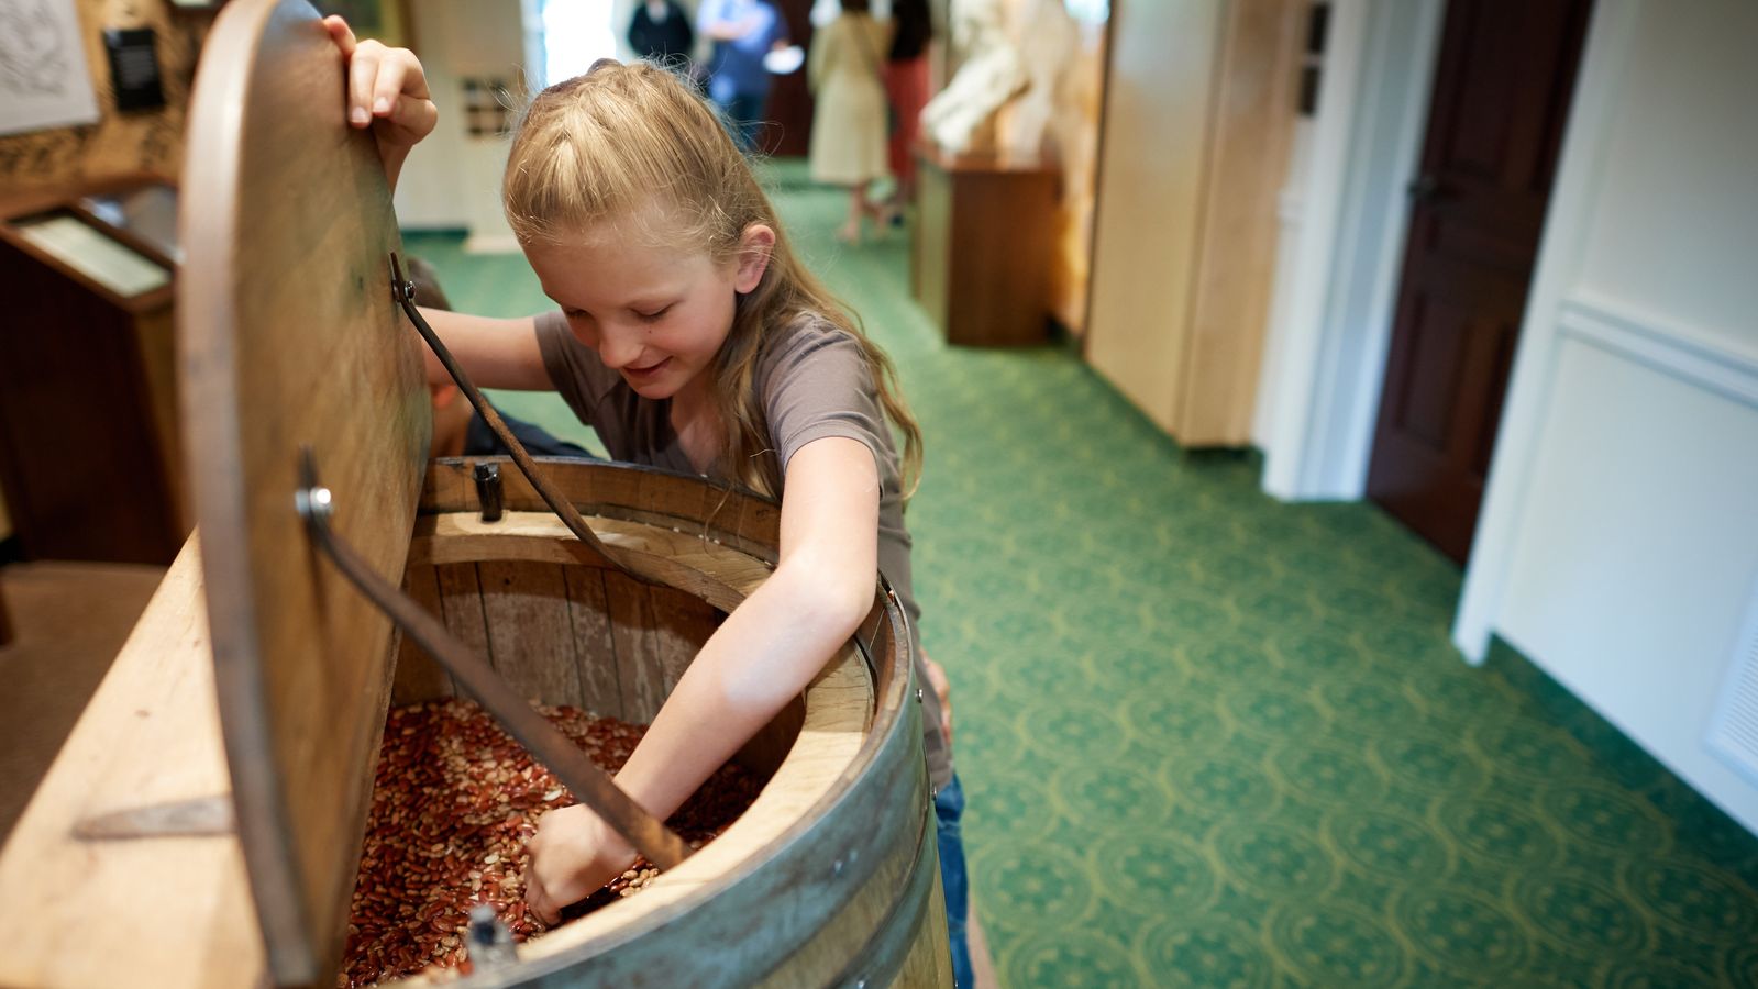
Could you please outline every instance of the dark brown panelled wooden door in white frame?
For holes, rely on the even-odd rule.
[[[1464,562],[1591,0],[1450,0],[1368,497]]]

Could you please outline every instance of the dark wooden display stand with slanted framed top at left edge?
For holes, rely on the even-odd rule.
[[[176,263],[84,191],[0,221],[0,487],[26,559],[169,564]]]

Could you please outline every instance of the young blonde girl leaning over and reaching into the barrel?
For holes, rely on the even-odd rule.
[[[355,42],[348,119],[373,126],[392,184],[436,111],[406,49]],[[554,388],[619,460],[714,474],[781,497],[775,573],[701,646],[617,783],[668,817],[849,639],[883,571],[912,618],[904,499],[921,436],[891,362],[795,258],[714,112],[675,76],[601,61],[526,111],[506,163],[508,221],[559,311],[427,320],[487,388]],[[429,376],[443,376],[429,357]],[[898,455],[891,427],[904,436]],[[944,678],[916,643],[941,819],[955,975],[970,984],[963,798]],[[526,899],[543,920],[635,850],[585,806],[543,817]]]

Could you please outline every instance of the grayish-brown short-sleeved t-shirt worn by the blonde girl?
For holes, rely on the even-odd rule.
[[[643,399],[598,353],[575,339],[559,311],[536,318],[538,348],[556,392],[573,415],[591,425],[615,460],[694,474],[677,432],[672,401]],[[860,343],[825,318],[802,316],[768,341],[756,369],[763,415],[782,476],[793,455],[814,439],[842,436],[867,444],[879,467],[879,573],[891,581],[909,615],[916,680],[923,685],[923,745],[935,787],[953,778],[951,752],[941,734],[941,704],[921,669],[916,622],[921,610],[909,576],[909,531],[904,529],[900,460],[884,406]]]

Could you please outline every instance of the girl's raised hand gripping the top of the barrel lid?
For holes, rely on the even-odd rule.
[[[373,128],[385,177],[396,188],[410,148],[440,121],[440,109],[427,93],[427,74],[413,51],[355,40],[348,21],[334,14],[323,18],[323,30],[348,63],[348,126]]]

